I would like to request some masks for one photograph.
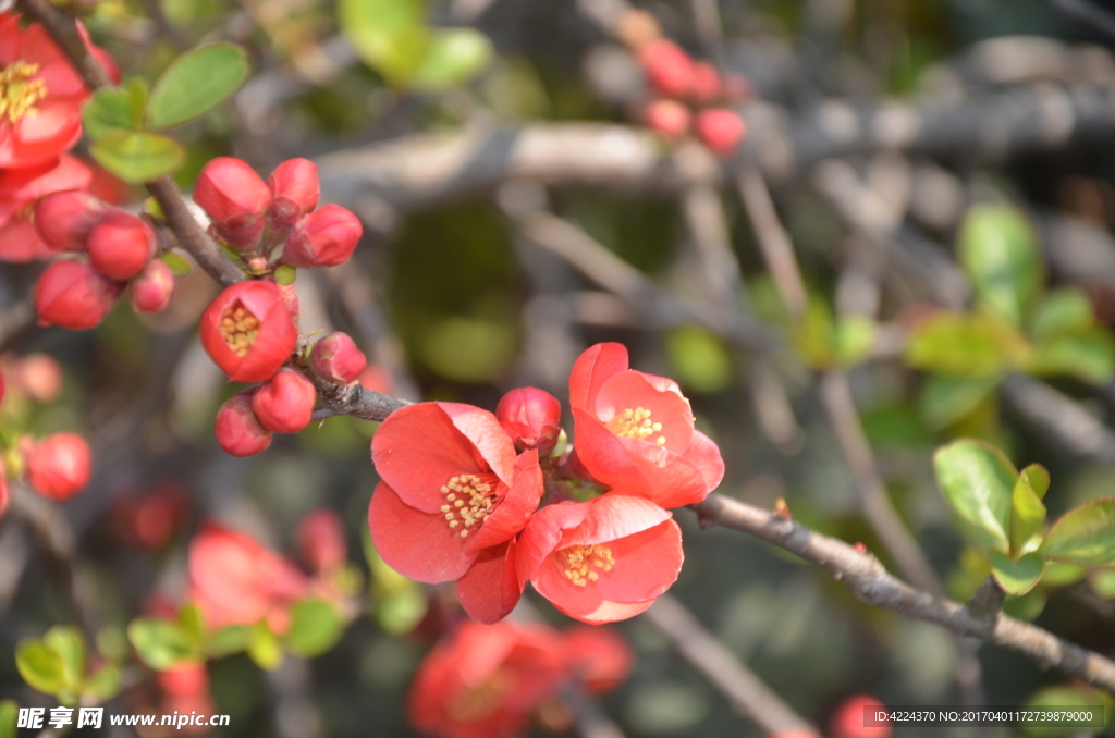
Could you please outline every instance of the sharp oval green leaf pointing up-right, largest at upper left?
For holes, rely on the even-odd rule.
[[[147,103],[153,129],[168,128],[215,107],[248,78],[248,55],[234,43],[186,51],[159,76]]]

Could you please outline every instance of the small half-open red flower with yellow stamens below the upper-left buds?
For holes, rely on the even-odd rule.
[[[202,346],[234,381],[263,381],[290,357],[298,328],[271,282],[251,280],[225,289],[202,313]]]

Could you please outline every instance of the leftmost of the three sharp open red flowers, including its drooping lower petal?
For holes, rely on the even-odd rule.
[[[384,561],[419,582],[459,580],[457,596],[476,620],[511,612],[522,592],[511,540],[542,497],[537,453],[516,458],[486,410],[421,402],[384,421],[371,457],[384,482],[368,522]]]

